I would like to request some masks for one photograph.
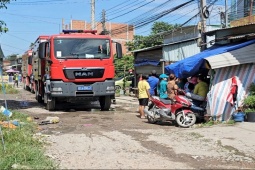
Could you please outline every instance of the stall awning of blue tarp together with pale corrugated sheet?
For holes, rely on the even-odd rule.
[[[232,43],[224,46],[215,45],[201,53],[165,67],[169,73],[179,78],[193,76],[206,67],[209,62],[212,69],[227,66],[254,63],[255,40]]]

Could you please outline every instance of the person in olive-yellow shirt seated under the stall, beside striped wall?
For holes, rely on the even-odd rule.
[[[193,93],[186,93],[186,96],[194,99],[193,103],[197,106],[203,103],[209,91],[208,84],[204,82],[204,80],[205,79],[202,75],[198,76],[198,84],[195,86]]]

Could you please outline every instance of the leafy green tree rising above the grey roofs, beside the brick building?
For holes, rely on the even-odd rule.
[[[133,41],[127,42],[129,51],[153,47],[163,43],[163,35],[159,33],[171,31],[179,25],[168,24],[166,22],[155,22],[151,28],[151,34],[148,36],[135,35]]]

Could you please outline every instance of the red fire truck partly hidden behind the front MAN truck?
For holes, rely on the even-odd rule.
[[[49,36],[39,36],[38,39],[35,41],[31,49],[36,48],[40,42],[46,41]],[[26,90],[30,90],[32,93],[35,92],[35,85],[34,85],[34,74],[32,65],[35,62],[33,58],[33,51],[28,50],[22,56],[22,82],[23,87]]]

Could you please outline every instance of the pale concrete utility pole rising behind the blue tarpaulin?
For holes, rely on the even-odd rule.
[[[200,19],[201,19],[201,51],[204,51],[206,49],[206,37],[204,33],[206,32],[206,0],[200,1]]]

